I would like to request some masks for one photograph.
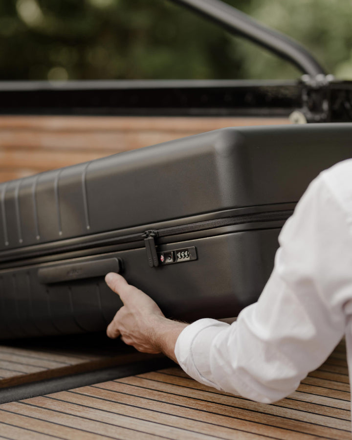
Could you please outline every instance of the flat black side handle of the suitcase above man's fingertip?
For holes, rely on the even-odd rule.
[[[38,279],[42,284],[62,283],[106,275],[108,272],[119,273],[122,261],[119,258],[106,258],[93,261],[75,261],[55,264],[38,269]]]

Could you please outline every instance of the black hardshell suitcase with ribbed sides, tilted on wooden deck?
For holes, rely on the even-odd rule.
[[[0,184],[0,337],[100,331],[109,271],[173,318],[257,300],[308,183],[352,124],[229,128]]]

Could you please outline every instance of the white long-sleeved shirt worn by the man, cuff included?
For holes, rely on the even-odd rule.
[[[194,322],[175,348],[199,382],[264,403],[292,393],[344,334],[351,377],[352,159],[313,180],[279,243],[258,302],[232,325]]]

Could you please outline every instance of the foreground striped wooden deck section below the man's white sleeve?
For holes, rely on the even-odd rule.
[[[2,404],[3,438],[350,439],[344,343],[273,405],[218,392],[175,366]]]

